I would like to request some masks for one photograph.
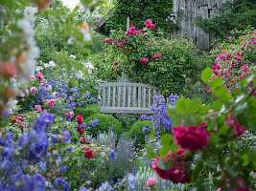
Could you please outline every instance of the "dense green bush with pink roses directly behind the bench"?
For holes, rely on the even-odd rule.
[[[146,22],[151,23],[151,20]],[[198,49],[188,39],[158,39],[152,31],[148,28],[135,31],[131,26],[128,32],[113,32],[109,39],[105,39],[113,72],[127,73],[131,81],[155,85],[163,96],[185,94],[182,88],[185,77],[195,83],[203,67],[202,60],[198,59]]]

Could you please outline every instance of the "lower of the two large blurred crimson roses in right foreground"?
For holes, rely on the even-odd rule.
[[[174,165],[171,169],[162,170],[157,166],[157,161],[161,158],[157,158],[154,162],[152,162],[152,169],[159,175],[160,178],[165,180],[171,180],[174,183],[186,183],[190,182],[190,177],[184,171],[185,166],[185,151],[183,149],[179,149],[174,155],[171,156],[171,152],[169,152],[164,161],[167,159],[172,159],[174,161]]]

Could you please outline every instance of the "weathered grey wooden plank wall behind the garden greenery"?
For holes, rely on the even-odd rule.
[[[224,3],[233,2],[233,0],[174,0],[174,12],[184,8],[184,15],[181,20],[181,30],[172,32],[171,36],[185,35],[192,38],[199,49],[206,50],[213,42],[214,36],[201,31],[194,24],[194,19],[198,17],[210,18],[219,11]]]

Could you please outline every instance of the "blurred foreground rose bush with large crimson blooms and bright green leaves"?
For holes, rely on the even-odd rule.
[[[160,158],[156,158],[148,147],[148,154],[156,158],[152,168],[162,179],[181,183],[191,181],[202,189],[201,180],[210,173],[219,190],[249,190],[253,181],[251,170],[255,165],[253,154],[232,147],[231,152],[223,150],[232,139],[246,134],[245,130],[255,124],[255,79],[255,71],[252,71],[238,84],[238,90],[231,98],[221,76],[216,77],[210,68],[202,72],[201,80],[210,83],[213,95],[218,96],[213,105],[202,105],[198,98],[179,98],[175,106],[168,109],[174,138],[168,134],[162,136]],[[196,155],[195,166],[192,163]],[[174,177],[175,173],[179,176]]]

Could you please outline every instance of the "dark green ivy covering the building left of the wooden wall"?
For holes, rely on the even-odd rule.
[[[151,1],[151,0],[117,0],[115,10],[105,23],[105,31],[123,31],[127,29],[127,17],[130,24],[135,28],[143,28],[144,22],[153,19],[156,29],[160,28],[164,32],[171,32],[178,29],[174,23],[166,22],[168,16],[173,12],[173,1]]]

